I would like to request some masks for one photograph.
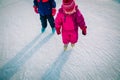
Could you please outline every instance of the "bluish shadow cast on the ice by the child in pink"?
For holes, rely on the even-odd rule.
[[[62,51],[40,80],[59,80],[62,68],[69,59],[71,52],[72,50]]]

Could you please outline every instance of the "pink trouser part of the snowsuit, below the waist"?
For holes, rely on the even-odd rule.
[[[62,31],[62,41],[64,44],[68,43],[76,43],[78,40],[78,31],[71,30],[71,31]]]

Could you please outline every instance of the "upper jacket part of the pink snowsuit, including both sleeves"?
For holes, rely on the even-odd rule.
[[[78,10],[78,7],[76,6],[76,12],[73,14],[65,14],[61,7],[55,19],[56,29],[62,28],[63,31],[78,30],[78,26],[80,26],[81,29],[86,26],[83,15]]]

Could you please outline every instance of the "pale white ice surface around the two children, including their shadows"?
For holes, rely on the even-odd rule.
[[[76,0],[88,34],[79,30],[78,43],[64,52],[50,25],[40,33],[32,0],[0,0],[0,80],[119,80],[119,2]]]

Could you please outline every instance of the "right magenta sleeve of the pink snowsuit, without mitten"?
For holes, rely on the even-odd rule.
[[[86,28],[84,17],[79,10],[77,10],[77,24],[80,26],[81,30]]]

